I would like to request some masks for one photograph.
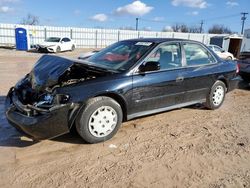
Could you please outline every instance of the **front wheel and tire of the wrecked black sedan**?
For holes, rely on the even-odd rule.
[[[76,119],[78,134],[88,143],[112,138],[121,126],[121,106],[109,97],[95,97],[86,103]]]

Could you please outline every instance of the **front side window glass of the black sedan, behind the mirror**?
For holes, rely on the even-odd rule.
[[[181,67],[181,48],[179,43],[159,46],[147,61],[159,62],[160,70]]]

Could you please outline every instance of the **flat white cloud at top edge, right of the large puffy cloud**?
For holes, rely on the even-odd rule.
[[[172,5],[200,9],[208,7],[208,3],[205,0],[172,0]]]

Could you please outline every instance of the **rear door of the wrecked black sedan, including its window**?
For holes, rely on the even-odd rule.
[[[183,85],[186,90],[184,102],[204,100],[215,82],[217,61],[201,44],[184,42],[182,49],[186,64],[183,71]]]

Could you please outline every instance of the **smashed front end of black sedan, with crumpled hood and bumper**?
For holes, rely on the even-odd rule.
[[[57,88],[74,85],[104,73],[90,71],[72,60],[45,55],[32,71],[11,88],[6,98],[8,121],[34,139],[68,133],[80,104]]]

